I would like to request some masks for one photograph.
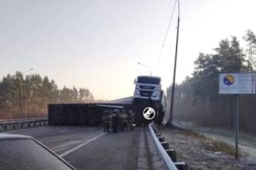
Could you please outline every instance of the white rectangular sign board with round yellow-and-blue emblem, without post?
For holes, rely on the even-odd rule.
[[[255,73],[221,73],[220,94],[255,94]]]

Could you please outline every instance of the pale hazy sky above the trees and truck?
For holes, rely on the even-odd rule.
[[[174,0],[1,0],[0,77],[15,71],[47,75],[59,87],[86,87],[97,99],[132,96],[133,80],[155,66]],[[256,1],[180,0],[177,81],[199,52],[221,38],[256,32]],[[177,8],[154,75],[172,82]]]

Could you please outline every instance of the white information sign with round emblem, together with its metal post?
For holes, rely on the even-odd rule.
[[[235,146],[238,159],[240,94],[255,94],[255,73],[220,73],[219,94],[236,94]]]

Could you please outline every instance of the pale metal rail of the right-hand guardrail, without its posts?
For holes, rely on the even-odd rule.
[[[152,129],[152,124],[148,125],[150,132],[153,136],[154,143],[157,146],[157,150],[160,153],[162,159],[164,160],[164,164],[169,170],[178,170],[175,164],[172,162],[172,159],[170,159],[168,153],[164,150],[163,146],[161,145],[159,139],[157,138],[155,132]]]

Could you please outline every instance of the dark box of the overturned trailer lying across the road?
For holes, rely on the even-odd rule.
[[[67,103],[49,104],[49,125],[99,125],[106,110],[131,110],[131,104]]]

